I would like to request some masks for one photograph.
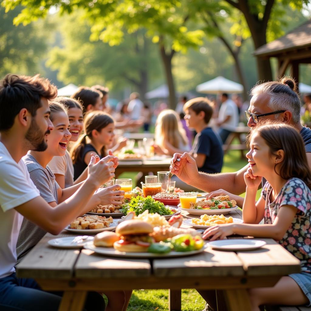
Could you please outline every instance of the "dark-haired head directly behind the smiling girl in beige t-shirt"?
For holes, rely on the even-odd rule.
[[[80,86],[70,97],[79,100],[84,114],[88,111],[103,110],[102,93],[90,87]]]

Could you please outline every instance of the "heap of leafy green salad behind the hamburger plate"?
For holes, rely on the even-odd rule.
[[[148,210],[149,213],[158,213],[159,215],[171,215],[173,211],[165,207],[162,202],[156,201],[151,196],[148,197],[132,197],[131,201],[123,204],[122,211],[128,214],[130,211],[134,211],[136,216],[142,214],[144,211]]]

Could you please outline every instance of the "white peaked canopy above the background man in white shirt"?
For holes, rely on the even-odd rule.
[[[243,85],[219,76],[215,79],[199,84],[196,87],[196,90],[199,93],[206,94],[242,93]]]

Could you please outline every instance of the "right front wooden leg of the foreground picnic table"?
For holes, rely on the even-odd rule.
[[[250,311],[251,302],[245,289],[224,290],[229,311]]]

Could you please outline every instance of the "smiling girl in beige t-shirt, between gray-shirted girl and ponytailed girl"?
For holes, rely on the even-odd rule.
[[[81,104],[74,98],[68,97],[57,97],[53,102],[60,103],[67,108],[70,124],[69,132],[71,134],[69,142],[77,142],[83,130],[83,108]],[[65,156],[53,157],[49,162],[49,168],[52,170],[55,175],[55,180],[62,189],[80,183],[87,177],[87,169],[85,169],[83,173],[73,181],[74,169],[68,147]]]

